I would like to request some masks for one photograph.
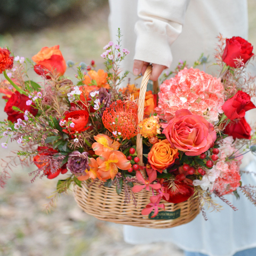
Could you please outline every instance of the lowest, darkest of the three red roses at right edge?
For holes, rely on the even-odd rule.
[[[234,139],[251,139],[251,126],[242,117],[238,122],[230,122],[224,130],[224,133],[233,136]]]

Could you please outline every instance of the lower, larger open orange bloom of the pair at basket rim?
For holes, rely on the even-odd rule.
[[[128,170],[132,167],[126,156],[117,150],[102,152],[97,158],[97,163],[99,164],[98,174],[103,180],[113,180],[118,169]]]

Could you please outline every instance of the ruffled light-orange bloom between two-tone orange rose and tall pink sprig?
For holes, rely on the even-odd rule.
[[[104,87],[109,89],[108,84],[108,73],[103,69],[99,69],[98,72],[95,70],[88,71],[88,75],[84,77],[83,83],[85,85],[95,85],[97,87]]]

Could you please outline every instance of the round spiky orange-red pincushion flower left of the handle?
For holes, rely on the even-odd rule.
[[[117,100],[103,112],[102,122],[115,137],[131,139],[138,133],[138,106],[131,101]]]

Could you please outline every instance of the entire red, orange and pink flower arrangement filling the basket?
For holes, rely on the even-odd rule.
[[[115,185],[118,194],[124,190],[126,202],[142,189],[151,191],[141,214],[154,211],[152,217],[164,202],[177,204],[191,196],[199,197],[202,210],[205,203],[218,209],[212,194],[223,198],[238,189],[256,204],[255,187],[244,186],[239,171],[243,154],[255,151],[256,137],[245,119],[246,111],[255,108],[254,80],[245,76],[253,47],[240,37],[219,40],[220,77],[180,65],[159,86],[158,99],[146,93],[141,122],[140,89],[121,88],[127,72],[121,76],[119,64],[129,51],[121,49],[120,34],[117,44],[104,47],[106,71],[97,71],[94,61],[81,63],[75,84],[63,76],[74,63],[66,65],[59,46],[43,47],[34,62],[0,49],[5,77],[0,92],[8,116],[1,122],[1,138],[21,146],[21,164],[37,166],[32,181],[60,178],[56,196],[71,185],[100,180],[101,186]],[[41,82],[26,80],[29,65]],[[143,137],[143,159],[137,155],[137,134]],[[1,187],[10,177],[8,168],[7,163]],[[141,173],[145,170],[147,177]]]

